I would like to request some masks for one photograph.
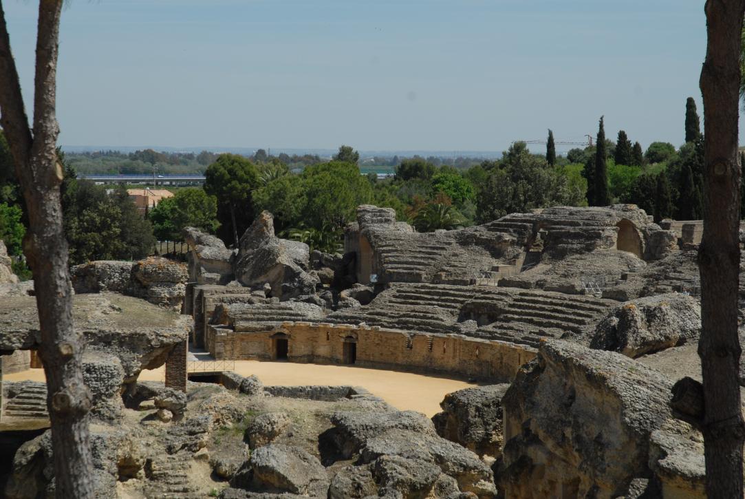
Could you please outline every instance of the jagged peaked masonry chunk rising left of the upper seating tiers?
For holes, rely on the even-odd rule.
[[[241,236],[235,277],[244,286],[268,283],[271,296],[282,300],[311,295],[319,281],[308,273],[309,260],[308,245],[276,237],[273,217],[264,211]]]

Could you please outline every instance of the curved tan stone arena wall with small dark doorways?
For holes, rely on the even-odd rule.
[[[490,380],[511,380],[536,355],[524,345],[461,335],[309,322],[285,322],[276,330],[251,333],[208,325],[206,346],[217,359],[273,360],[277,342],[285,339],[288,360],[297,363],[350,363],[346,345],[352,344],[355,365]]]

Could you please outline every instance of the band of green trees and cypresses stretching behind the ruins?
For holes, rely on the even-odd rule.
[[[343,227],[355,219],[359,204],[392,207],[397,219],[420,231],[466,227],[557,204],[633,203],[656,221],[701,218],[703,136],[693,98],[685,106],[686,142],[677,149],[668,142],[652,142],[644,150],[624,130],[614,142],[606,138],[604,127],[601,117],[595,145],[565,155],[557,154],[549,130],[545,154],[532,154],[524,142],[514,142],[499,160],[460,158],[460,163],[447,164],[437,157],[389,158],[394,175],[381,179],[374,173],[361,175],[359,153],[348,145],[330,160],[273,156],[263,149],[250,157],[152,149],[130,154],[60,151],[70,262],[144,257],[156,239],[179,240],[187,225],[235,245],[261,210],[273,213],[282,236],[324,251],[340,248]],[[120,170],[121,165],[139,165],[144,171],[153,163],[159,168],[206,163],[206,183],[203,188],[177,189],[173,198],[162,200],[143,217],[123,186],[107,193],[104,186],[78,179],[82,160],[118,164]],[[0,238],[13,255],[21,254],[27,223],[13,160],[0,134]]]

